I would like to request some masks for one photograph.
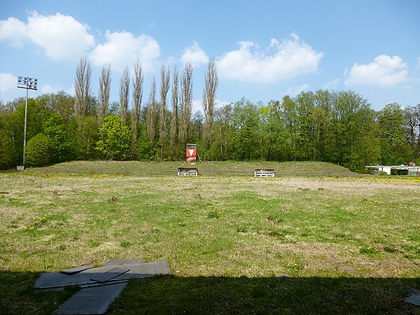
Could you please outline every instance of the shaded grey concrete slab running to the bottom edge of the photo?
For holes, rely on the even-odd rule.
[[[106,309],[120,295],[125,286],[127,283],[82,288],[52,314],[105,314]]]

